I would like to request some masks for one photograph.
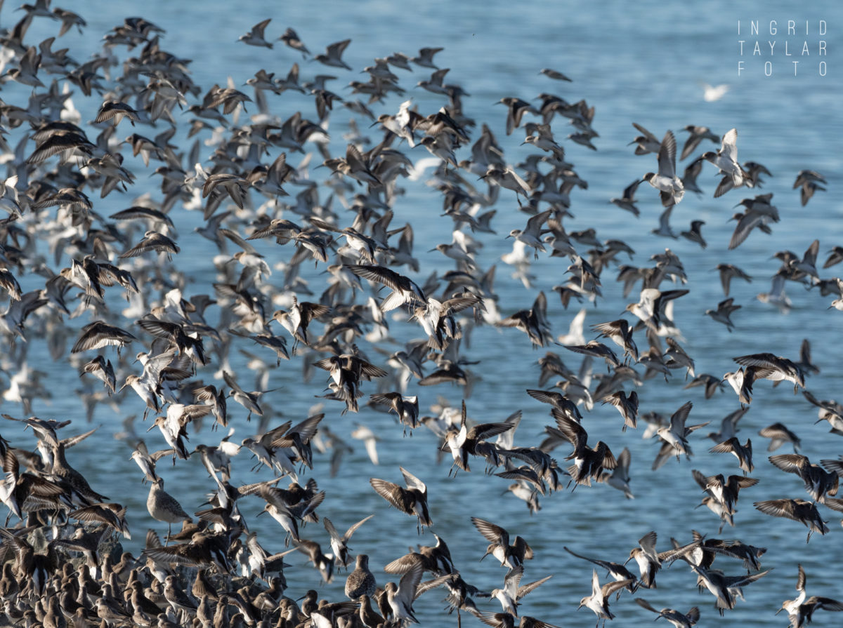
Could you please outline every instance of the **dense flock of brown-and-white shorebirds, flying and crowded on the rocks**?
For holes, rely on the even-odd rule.
[[[336,90],[331,83],[345,79],[333,75],[360,77],[348,74],[352,67],[343,61],[352,40],[314,55],[292,28],[270,35],[274,24],[266,19],[238,45],[255,47],[255,59],[260,48],[284,50],[284,58],[294,60],[287,61],[288,71],[261,69],[244,86],[208,87],[191,80],[191,61],[166,51],[164,29],[147,19],[116,25],[101,51],[80,62],[60,42],[71,29],[88,35],[82,16],[53,8],[50,0],[20,11],[19,21],[0,34],[0,150],[7,169],[0,188],[0,290],[8,301],[0,314],[3,427],[15,434],[0,436],[0,499],[8,511],[0,529],[4,623],[400,627],[418,623],[416,599],[438,589],[458,625],[470,615],[495,628],[555,628],[579,620],[575,613],[582,607],[599,625],[615,616],[610,603],[616,608],[634,600],[642,619],[653,613],[690,628],[705,607],[657,609],[640,597],[642,589],[650,600],[657,593],[667,600],[669,591],[657,589],[659,572],[684,568],[688,587],[701,592],[701,605],[713,599],[720,615],[744,600],[744,589],[753,595],[754,583],[770,572],[761,563],[765,548],[751,545],[749,537],[720,537],[727,527],[742,535],[751,531],[741,529],[736,505],[738,495],[752,499],[760,482],[752,475],[757,466],[803,482],[804,493],[791,482],[790,497],[753,506],[792,519],[794,530],[803,524],[811,546],[817,543],[813,534],[830,532],[831,514],[843,512],[843,498],[835,497],[843,456],[809,460],[800,454],[802,426],[776,421],[760,429],[760,438],[769,439],[768,460],[754,457],[751,439],[738,437],[738,421],[753,396],[772,395],[782,382],[804,396],[806,410],[819,408],[819,421],[833,434],[843,435],[843,405],[808,388],[819,371],[808,340],[790,358],[760,347],[734,356],[725,375],[697,373],[682,345],[685,320],[674,317],[676,304],[692,290],[682,287],[688,278],[679,256],[665,248],[634,266],[622,263],[635,254],[626,242],[601,240],[593,228],[566,229],[577,196],[588,189],[568,159],[599,150],[595,108],[552,93],[571,82],[566,75],[541,70],[547,93],[532,101],[503,97],[499,119],[480,122],[464,109],[470,94],[448,82],[449,69],[439,67],[443,48],[377,58],[363,68],[366,80]],[[55,35],[31,40],[35,22],[52,24]],[[312,42],[310,47],[317,49]],[[309,72],[331,74],[300,77],[305,59],[319,64],[303,66]],[[408,77],[427,77],[416,88],[432,97],[405,97]],[[13,103],[15,94],[21,99]],[[306,106],[279,115],[290,111],[286,103],[293,98]],[[431,98],[441,102],[424,109],[420,103]],[[74,99],[99,106],[93,120]],[[401,102],[393,106],[396,100]],[[336,152],[328,122],[341,114],[347,132]],[[760,162],[738,161],[738,130],[685,126],[679,161],[690,161],[680,177],[674,132],[659,140],[661,133],[634,127],[638,157],[630,158],[640,160],[642,176],[611,199],[619,220],[629,217],[624,211],[640,216],[638,205],[658,206],[655,189],[661,202],[656,237],[707,246],[703,221],[679,233],[671,226],[687,193],[728,194],[736,201],[744,196],[724,249],[776,228],[781,218],[772,194],[759,193],[773,175]],[[524,133],[524,162],[507,161],[496,137],[501,130]],[[741,150],[753,153],[752,146]],[[717,173],[713,191],[697,184],[703,172]],[[144,178],[152,183],[143,184]],[[431,211],[424,221],[435,220],[451,234],[427,257],[414,247],[413,226],[402,210],[405,180],[421,179],[442,202],[438,216]],[[822,174],[803,170],[793,185],[798,195],[776,202],[805,205],[827,185]],[[101,210],[115,199],[121,210]],[[523,216],[523,228],[497,232],[502,212]],[[203,238],[201,252],[180,244],[180,232],[193,225]],[[500,261],[530,291],[522,305],[499,298],[496,263],[482,254],[484,243],[500,240],[513,247]],[[781,266],[759,300],[787,311],[792,302],[786,288],[797,285],[833,296],[830,308],[843,310],[843,282],[819,274],[843,261],[843,247],[834,247],[820,269],[818,256],[819,241],[803,254],[776,253]],[[447,271],[424,269],[432,258]],[[556,276],[565,278],[552,289],[555,306],[545,291],[534,293],[539,258],[555,263]],[[716,270],[723,300],[699,313],[731,332],[731,316],[741,305],[729,297],[730,284],[752,278],[733,264]],[[604,288],[615,290],[613,282],[603,283],[615,272],[616,290],[631,301],[620,318],[586,326],[586,307],[568,313],[572,303],[588,306],[603,298]],[[570,323],[567,333],[555,333],[551,322],[557,320]],[[507,352],[530,354],[536,365],[522,374],[524,395],[514,404],[523,409],[506,418],[499,412],[486,423],[470,418],[497,412],[471,398],[481,374],[496,375],[471,368],[477,364],[469,354],[471,334],[481,327],[509,328],[499,334]],[[53,362],[78,373],[78,412],[33,413],[51,389],[58,394],[37,368],[33,353],[42,343]],[[307,416],[280,411],[285,396],[297,394],[277,389],[281,371],[300,371],[298,393],[319,397]],[[661,382],[683,378],[685,388],[701,387],[701,393],[688,392],[701,401],[676,404],[670,416],[652,410]],[[436,396],[439,391],[459,391],[462,400],[450,403]],[[719,427],[711,419],[694,422],[695,408],[718,392],[733,395],[734,412]],[[615,407],[622,420],[615,417],[610,431],[590,423],[589,414],[603,406]],[[117,419],[110,427],[80,431],[99,407]],[[550,419],[537,418],[544,410]],[[365,490],[384,499],[384,510],[406,514],[405,530],[386,529],[380,511],[346,529],[341,496],[327,495],[319,478],[335,476],[352,450],[344,434],[379,464],[379,442],[387,439],[371,420],[379,413],[395,419],[389,438],[402,450],[429,442],[413,434],[432,432],[437,444],[430,454],[445,463],[420,469],[408,455],[398,468],[380,466]],[[544,422],[539,440],[529,441],[524,428],[516,440],[523,420],[532,424],[530,434]],[[218,431],[202,434],[203,423]],[[104,494],[110,493],[104,477],[78,471],[83,460],[74,447],[116,424],[122,431],[115,436],[137,463],[137,481],[148,484],[148,517]],[[706,426],[717,430],[708,434],[711,444],[694,434]],[[593,430],[610,434],[609,442],[589,438]],[[539,519],[541,501],[557,492],[606,485],[617,489],[618,498],[632,499],[647,490],[633,489],[625,446],[641,434],[659,444],[652,470],[670,465],[699,485],[701,505],[711,510],[711,533],[694,530],[665,541],[652,530],[636,541],[638,532],[626,562],[566,546],[573,556],[566,572],[535,573],[537,579],[522,583],[534,558],[529,535],[525,540],[523,531],[507,530],[504,516],[490,521],[466,515],[464,524],[479,534],[477,558],[490,557],[483,575],[479,567],[454,561],[450,527],[438,528],[435,521],[445,505],[434,491],[428,494],[426,478],[447,475],[437,482],[459,483],[485,471],[493,491],[508,485],[502,515],[510,507],[529,508]],[[148,445],[153,439],[165,446]],[[772,453],[782,446],[792,453]],[[681,460],[690,460],[694,447],[708,449],[722,472],[707,476]],[[207,501],[189,511],[167,492],[164,476],[191,458],[201,461],[196,486]],[[250,466],[255,482],[236,482],[233,467],[249,473]],[[786,486],[787,477],[776,478]],[[259,535],[253,518],[241,511],[247,503],[262,507],[280,527]],[[121,550],[120,541],[137,540],[140,521],[149,530],[134,556]],[[408,538],[419,540],[383,566],[387,582],[370,569],[372,552],[349,547],[363,526],[379,528],[381,535],[409,531]],[[563,545],[564,530],[558,534]],[[297,556],[306,556],[310,567],[301,567]],[[590,594],[578,607],[576,599],[556,596],[557,609],[542,619],[518,609],[529,606],[525,598],[536,588],[560,586],[561,579],[583,583],[588,593],[586,562],[593,564]],[[300,591],[297,579],[311,567],[325,585],[344,580],[344,597]],[[843,602],[813,589],[808,596],[802,565],[793,577],[797,597],[778,609],[792,628],[839,621],[827,615],[843,610]],[[484,586],[494,578],[497,588],[464,578]]]

